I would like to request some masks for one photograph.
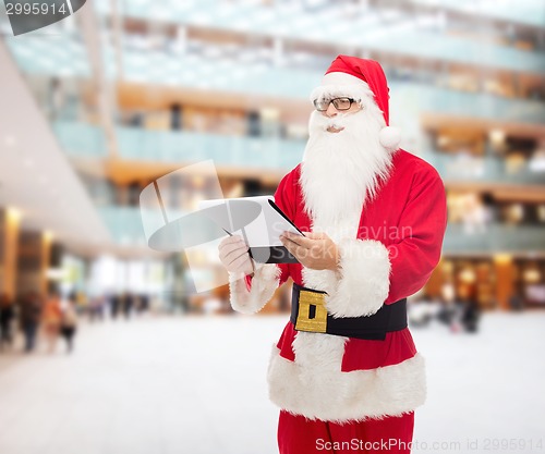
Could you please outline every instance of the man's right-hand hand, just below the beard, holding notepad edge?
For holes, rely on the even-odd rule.
[[[305,236],[283,232],[280,241],[301,265],[314,270],[337,270],[339,250],[325,233],[305,232]]]

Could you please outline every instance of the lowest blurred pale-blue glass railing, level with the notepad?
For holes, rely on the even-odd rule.
[[[99,212],[112,237],[121,245],[145,246],[141,211],[110,206]],[[444,254],[531,253],[545,249],[544,226],[493,223],[484,226],[448,224]]]

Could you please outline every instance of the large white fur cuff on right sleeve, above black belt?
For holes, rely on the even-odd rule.
[[[344,238],[339,244],[337,291],[326,297],[327,311],[336,318],[375,314],[388,296],[388,249],[374,240]]]

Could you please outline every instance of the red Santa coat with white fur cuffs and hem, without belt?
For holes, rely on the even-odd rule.
[[[298,165],[283,177],[275,200],[302,231],[312,231]],[[440,256],[446,229],[443,182],[427,162],[398,150],[389,179],[367,201],[353,236],[336,236],[340,272],[300,263],[267,265],[251,285],[231,282],[231,303],[255,312],[289,277],[299,285],[326,291],[334,317],[375,314],[383,304],[412,295],[426,283]],[[350,219],[350,218],[348,218]],[[340,231],[339,231],[340,232]],[[349,421],[401,415],[425,400],[424,360],[409,329],[384,341],[298,332],[288,322],[274,346],[268,371],[274,403],[311,419]]]

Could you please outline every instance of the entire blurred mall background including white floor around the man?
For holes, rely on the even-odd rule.
[[[383,64],[403,148],[447,191],[443,258],[411,298],[429,371],[417,437],[542,435],[543,1],[96,0],[17,37],[0,11],[1,302],[58,290],[80,317],[66,360],[23,355],[12,320],[0,451],[275,451],[264,375],[289,287],[232,316],[226,286],[195,292],[225,279],[217,257],[150,249],[140,200],[155,181],[173,216],[216,197],[209,173],[179,173],[208,160],[223,196],[272,194],[339,53]],[[459,304],[477,334],[416,327]]]

